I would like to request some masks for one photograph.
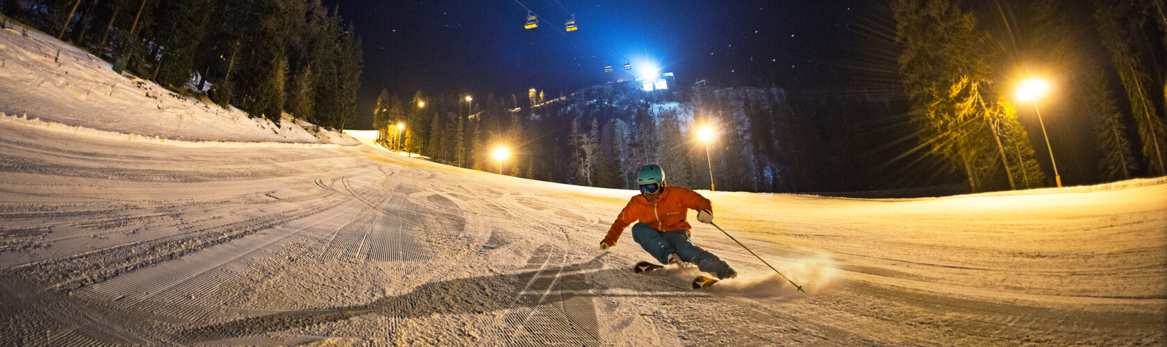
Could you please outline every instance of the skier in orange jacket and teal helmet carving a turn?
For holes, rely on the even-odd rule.
[[[710,199],[690,189],[665,184],[664,170],[656,164],[641,168],[636,175],[636,184],[641,186],[641,194],[633,197],[616,217],[608,229],[608,236],[600,241],[601,250],[616,246],[624,228],[640,221],[633,226],[633,240],[661,263],[689,262],[721,279],[738,277],[738,271],[725,261],[689,241],[691,234],[685,217],[692,208],[697,210],[698,221],[713,222],[713,205]],[[659,268],[642,263],[645,265],[637,264],[637,272]]]

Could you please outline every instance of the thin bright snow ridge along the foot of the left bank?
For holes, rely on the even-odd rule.
[[[239,142],[239,141],[184,141],[184,140],[173,140],[159,136],[148,136],[139,134],[126,134],[126,133],[114,133],[106,130],[91,129],[86,127],[70,126],[58,122],[43,121],[40,119],[28,119],[28,115],[16,116],[7,115],[0,112],[0,122],[9,125],[19,125],[26,127],[35,127],[40,129],[67,133],[74,135],[92,136],[99,139],[110,140],[121,140],[130,142],[145,142],[145,143],[161,143],[179,147],[216,147],[216,148],[253,148],[253,147],[284,147],[284,148],[340,148],[341,144],[336,143],[302,143],[302,142]]]

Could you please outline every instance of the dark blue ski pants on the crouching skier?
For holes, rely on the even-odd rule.
[[[682,261],[694,263],[701,271],[713,274],[718,278],[725,278],[733,271],[733,268],[717,255],[693,246],[693,242],[689,241],[687,231],[657,233],[649,225],[637,222],[633,226],[633,240],[641,243],[641,247],[662,264],[668,264],[669,255],[676,253]]]

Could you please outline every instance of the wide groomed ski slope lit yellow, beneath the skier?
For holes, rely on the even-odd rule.
[[[6,59],[40,42],[11,34],[0,31]],[[163,115],[117,98],[105,108],[124,111],[91,115],[111,119],[54,119],[76,101],[36,98],[63,84],[13,86],[20,79],[0,71],[8,114],[149,136],[222,129],[183,139],[252,143],[0,122],[2,341],[1167,344],[1163,178],[903,200],[700,191],[720,226],[806,293],[696,222],[694,242],[742,278],[693,291],[692,269],[633,274],[650,259],[628,232],[599,250],[633,191],[369,147],[260,143],[327,141],[263,137],[231,118],[151,133],[112,118]]]

